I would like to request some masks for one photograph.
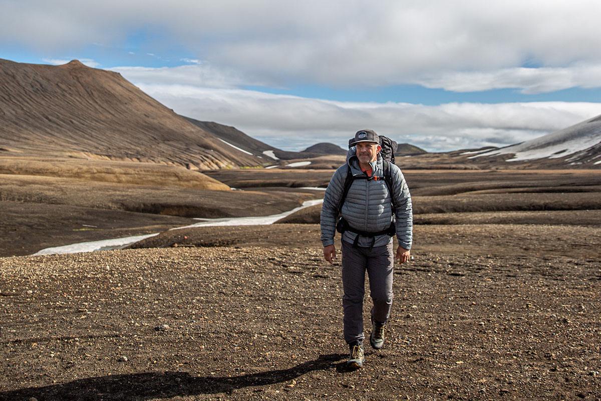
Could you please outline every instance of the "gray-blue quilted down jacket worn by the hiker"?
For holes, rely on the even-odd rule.
[[[344,191],[348,167],[350,165],[353,175],[365,175],[359,168],[359,160],[355,147],[349,149],[346,158],[347,164],[335,171],[323,197],[321,228],[323,246],[334,243],[336,233],[337,207]],[[378,154],[377,161],[371,162],[372,176],[383,177],[382,157]],[[392,191],[394,192],[397,210],[395,212],[398,245],[405,249],[411,248],[413,240],[413,212],[409,188],[401,173],[400,168],[391,164]],[[377,233],[389,227],[392,221],[392,204],[388,193],[386,181],[381,180],[354,180],[344,201],[341,215],[349,225],[359,231]],[[345,231],[343,240],[353,243],[358,234]],[[372,238],[359,236],[358,245],[369,247]],[[392,240],[388,235],[376,236],[373,246],[387,245]]]

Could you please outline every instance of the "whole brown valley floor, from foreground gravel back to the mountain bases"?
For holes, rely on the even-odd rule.
[[[332,175],[275,170],[213,174],[243,191],[4,174],[0,400],[601,399],[597,171],[404,171],[414,259],[395,269],[385,347],[350,372],[319,206],[167,230],[291,210]],[[10,256],[148,231],[132,249]]]

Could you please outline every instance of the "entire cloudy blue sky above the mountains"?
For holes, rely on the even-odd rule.
[[[297,4],[298,3],[298,4]],[[601,114],[601,2],[0,0],[0,58],[120,72],[285,150],[371,128],[448,151]]]

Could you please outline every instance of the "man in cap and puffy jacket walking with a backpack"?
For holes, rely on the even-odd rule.
[[[370,344],[380,349],[392,306],[394,260],[409,260],[413,213],[409,188],[401,170],[380,155],[380,138],[364,129],[349,141],[345,165],[336,170],[323,197],[321,230],[323,256],[334,264],[335,231],[342,233],[344,340],[349,344],[348,365],[363,366],[363,298],[365,271],[370,281]],[[337,224],[337,216],[341,219]],[[392,249],[396,234],[398,248]]]

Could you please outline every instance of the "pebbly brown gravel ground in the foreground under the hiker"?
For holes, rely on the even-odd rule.
[[[288,246],[1,258],[0,400],[601,399],[599,234],[496,227],[416,227],[385,347],[354,372],[340,266],[300,228]]]

